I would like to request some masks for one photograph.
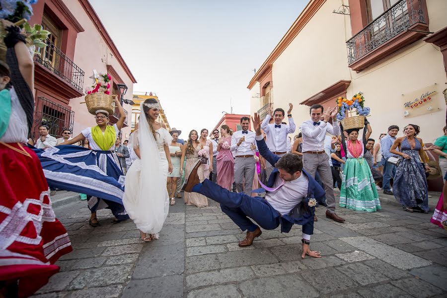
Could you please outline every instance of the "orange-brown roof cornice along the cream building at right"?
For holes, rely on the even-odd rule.
[[[264,61],[262,66],[256,72],[254,77],[251,79],[247,88],[252,89],[256,82],[262,80],[268,69],[272,68],[273,62],[284,52],[284,50],[290,45],[290,43],[295,39],[298,33],[304,28],[307,22],[312,18],[312,16],[320,9],[320,7],[326,2],[326,0],[310,0],[306,7],[299,14],[298,18],[295,20],[293,25],[289,28],[280,42],[273,49],[269,57]]]

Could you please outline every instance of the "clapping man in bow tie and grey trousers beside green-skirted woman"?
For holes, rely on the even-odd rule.
[[[335,118],[337,112],[337,108],[333,108],[323,113],[323,106],[320,104],[313,104],[310,107],[310,119],[301,125],[302,161],[304,170],[312,177],[315,177],[315,172],[318,172],[324,184],[327,203],[326,217],[337,222],[344,222],[343,218],[335,214],[334,182],[329,167],[329,156],[324,145],[326,132],[332,135],[340,134],[340,127],[337,118]],[[329,125],[327,122],[331,117],[332,125]]]

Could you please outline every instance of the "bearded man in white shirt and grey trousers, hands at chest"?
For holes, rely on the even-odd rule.
[[[230,150],[234,155],[234,181],[238,193],[251,196],[253,190],[253,178],[256,171],[256,135],[248,130],[250,118],[240,118],[242,130],[236,131],[231,136]]]

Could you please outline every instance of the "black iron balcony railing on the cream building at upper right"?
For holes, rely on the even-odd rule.
[[[421,0],[400,0],[346,42],[352,64],[416,23],[426,23]]]

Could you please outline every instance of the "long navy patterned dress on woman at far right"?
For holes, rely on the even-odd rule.
[[[417,138],[414,140],[415,147],[413,149],[411,149],[407,138],[404,138],[400,145],[400,152],[409,155],[411,159],[403,158],[397,167],[393,182],[393,193],[402,206],[416,207],[428,211],[427,179],[424,165],[419,157],[419,150],[421,150],[422,145]]]

